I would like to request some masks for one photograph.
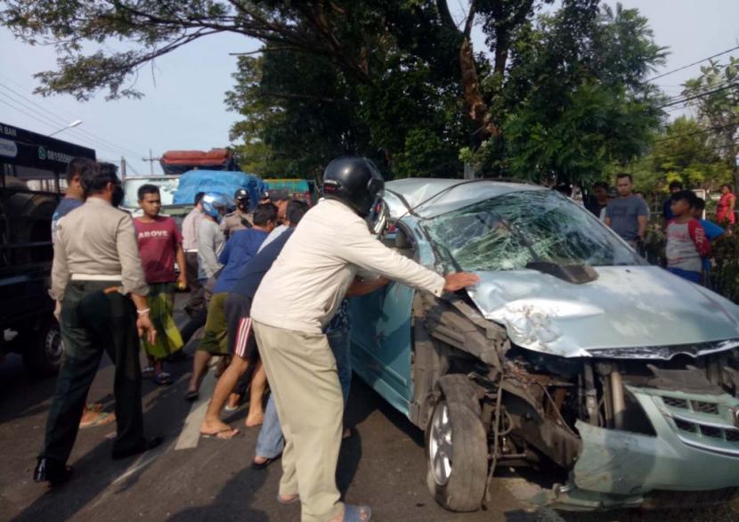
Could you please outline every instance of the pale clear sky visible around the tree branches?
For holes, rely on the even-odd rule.
[[[616,4],[612,0],[605,3]],[[459,0],[458,4],[467,2]],[[661,71],[739,45],[737,0],[622,0],[621,4],[645,14],[657,44],[670,47]],[[458,15],[461,9],[455,11]],[[479,31],[474,45],[482,48]],[[33,73],[53,69],[56,54],[52,47],[22,44],[8,29],[0,28],[0,121],[51,134],[82,119],[81,126],[58,137],[94,148],[102,159],[118,162],[125,156],[134,172],[148,174],[149,163],[142,158],[150,149],[157,157],[167,150],[207,151],[229,143],[229,128],[238,117],[223,104],[236,69],[237,59],[229,53],[250,52],[258,46],[238,35],[206,37],[159,58],[153,68],[142,69],[136,84],[146,94],[141,100],[106,102],[101,93],[90,102],[77,102],[68,95],[44,98],[32,94],[37,86]],[[739,51],[733,54],[739,56]],[[727,56],[721,59],[726,61]],[[695,66],[663,77],[657,84],[667,94],[679,94],[680,84],[697,71]],[[134,172],[129,170],[129,174]],[[158,163],[154,172],[161,172]]]

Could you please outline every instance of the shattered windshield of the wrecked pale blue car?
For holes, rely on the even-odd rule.
[[[585,208],[552,191],[510,192],[434,217],[423,226],[437,254],[457,270],[518,270],[532,261],[643,263]]]

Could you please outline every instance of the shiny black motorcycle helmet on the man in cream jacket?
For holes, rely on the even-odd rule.
[[[378,168],[367,158],[333,159],[323,171],[324,197],[342,201],[362,217],[370,214],[384,187]]]

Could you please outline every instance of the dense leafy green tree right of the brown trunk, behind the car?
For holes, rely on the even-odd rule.
[[[483,168],[589,184],[646,151],[662,114],[646,76],[664,50],[636,10],[597,4],[564,2],[522,31],[496,105],[502,134],[481,149]]]

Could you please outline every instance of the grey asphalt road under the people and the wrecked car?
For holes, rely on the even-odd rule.
[[[191,360],[170,364],[175,384],[169,387],[144,381],[146,429],[149,434],[164,433],[164,445],[139,458],[114,462],[110,460],[114,425],[82,430],[70,460],[75,476],[68,484],[50,489],[35,484],[31,474],[43,440],[54,379],[31,380],[19,357],[6,357],[0,363],[0,520],[299,520],[297,505],[281,506],[275,500],[279,463],[264,471],[248,467],[257,428],[247,429],[243,436],[229,441],[195,435],[197,418],[207,397],[192,409],[183,400],[190,368]],[[109,408],[112,374],[106,358],[90,393],[90,399],[102,400]],[[212,380],[207,379],[206,386],[212,385]],[[508,470],[493,480],[493,501],[488,510],[454,514],[440,508],[426,491],[423,436],[417,428],[357,378],[348,409],[358,435],[342,447],[337,481],[346,501],[372,506],[373,520],[739,520],[739,504],[660,512],[583,514],[532,510],[516,498],[530,489],[529,483]],[[243,428],[245,415],[242,406],[228,420]]]

